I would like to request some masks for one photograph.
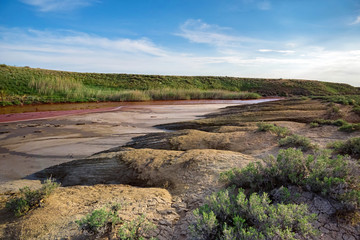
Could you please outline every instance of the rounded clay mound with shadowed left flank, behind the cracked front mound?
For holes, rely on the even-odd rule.
[[[183,193],[196,186],[216,186],[219,174],[233,167],[243,167],[255,158],[220,150],[169,151],[123,148],[47,168],[35,174],[52,176],[63,186],[94,184],[129,184],[165,187]]]

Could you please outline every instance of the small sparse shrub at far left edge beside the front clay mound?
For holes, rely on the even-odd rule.
[[[21,188],[20,196],[9,200],[6,203],[6,208],[14,212],[17,217],[25,215],[30,210],[39,207],[44,199],[49,197],[59,186],[60,184],[52,179],[47,179],[38,190],[31,190],[29,187]]]

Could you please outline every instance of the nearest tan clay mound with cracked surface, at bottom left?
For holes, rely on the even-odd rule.
[[[171,207],[169,192],[159,188],[136,188],[124,185],[60,187],[43,207],[8,224],[1,239],[89,239],[81,234],[75,220],[95,209],[121,204],[119,216],[133,220],[144,214],[157,225],[153,236],[172,238],[172,225],[179,219]]]

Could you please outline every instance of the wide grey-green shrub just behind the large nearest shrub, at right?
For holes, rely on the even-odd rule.
[[[350,164],[343,156],[332,158],[329,151],[304,156],[301,150],[289,148],[280,150],[277,158],[269,156],[263,163],[224,172],[221,179],[250,192],[297,185],[341,200],[349,192],[357,191],[358,168],[358,164]]]

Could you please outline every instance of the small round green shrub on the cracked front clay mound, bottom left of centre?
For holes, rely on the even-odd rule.
[[[112,208],[109,211],[102,208],[94,210],[81,220],[75,222],[79,225],[82,232],[101,236],[104,233],[111,231],[112,227],[120,222],[120,218],[117,216],[116,208]]]

